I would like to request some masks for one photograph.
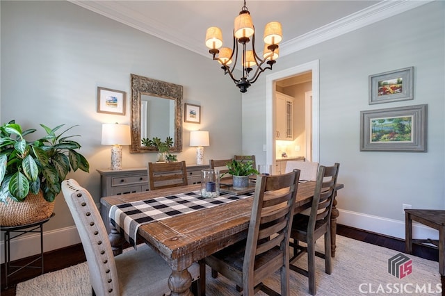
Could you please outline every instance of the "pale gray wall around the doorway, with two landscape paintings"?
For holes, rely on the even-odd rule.
[[[339,182],[345,188],[338,208],[345,224],[380,233],[402,224],[403,234],[403,203],[445,208],[444,16],[444,1],[428,3],[279,58],[274,65],[277,72],[319,60],[320,163],[341,164]],[[368,104],[369,75],[410,66],[414,100]],[[266,162],[259,150],[266,143],[265,104],[266,75],[243,94],[243,152],[257,154],[257,163]],[[417,104],[428,104],[426,153],[359,151],[360,111]]]

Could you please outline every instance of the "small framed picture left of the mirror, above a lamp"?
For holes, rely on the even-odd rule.
[[[97,112],[125,115],[125,92],[97,88]]]

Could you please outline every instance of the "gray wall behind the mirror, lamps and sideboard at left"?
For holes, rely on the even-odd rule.
[[[241,153],[241,93],[211,58],[181,49],[67,1],[1,1],[1,113],[3,124],[79,124],[80,152],[90,174],[71,173],[99,201],[99,168],[110,167],[102,123],[130,123],[130,74],[184,86],[184,102],[201,106],[201,124],[183,124],[183,152],[195,163],[189,131],[210,131],[204,161]],[[127,92],[124,116],[97,113],[97,87]],[[228,115],[230,120],[227,120]],[[130,154],[124,167],[145,167],[156,154]],[[45,231],[74,225],[63,196]],[[2,237],[3,238],[3,237]]]

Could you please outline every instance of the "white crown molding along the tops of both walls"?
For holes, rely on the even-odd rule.
[[[197,42],[197,40],[193,38],[185,38],[185,36],[175,34],[174,28],[169,28],[168,24],[161,24],[153,19],[147,19],[145,15],[130,10],[127,6],[122,5],[120,1],[68,1],[99,15],[104,15],[117,22],[136,28],[139,31],[148,33],[149,35],[193,51],[206,58],[211,58],[207,48],[205,48],[202,43]],[[364,26],[369,26],[382,19],[394,17],[394,15],[404,13],[407,10],[412,10],[432,1],[435,0],[380,1],[373,6],[369,6],[369,8],[365,8],[357,13],[338,19],[335,22],[321,26],[314,31],[300,35],[298,38],[282,42],[282,44],[280,44],[280,56],[293,54],[296,51],[312,47],[315,44],[350,33]]]

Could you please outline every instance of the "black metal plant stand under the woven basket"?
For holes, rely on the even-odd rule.
[[[38,222],[33,222],[26,225],[19,225],[19,226],[10,226],[10,227],[3,227],[1,226],[1,231],[5,231],[5,289],[8,288],[8,277],[12,276],[16,272],[19,272],[20,270],[24,268],[41,268],[42,274],[44,272],[43,270],[43,224],[48,222],[51,217],[54,217],[56,215],[55,213],[52,213],[50,217],[44,220],[40,220]],[[11,236],[11,233],[19,233],[16,235]],[[22,266],[17,265],[11,265],[10,264],[10,241],[14,238],[17,238],[19,236],[23,236],[25,233],[40,233],[40,256],[33,259],[31,262],[26,263]],[[31,265],[35,263],[36,261],[40,260],[40,266]],[[11,268],[15,268],[13,272],[10,271]]]

